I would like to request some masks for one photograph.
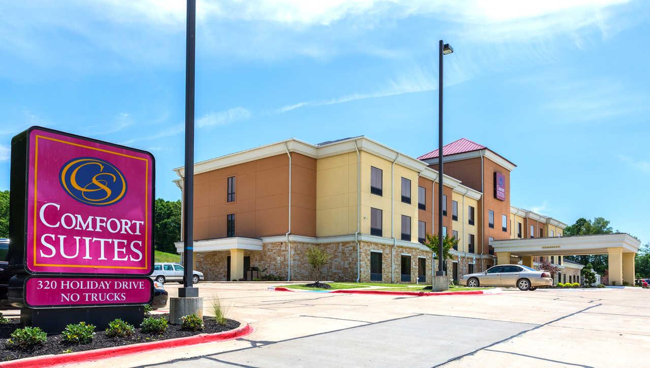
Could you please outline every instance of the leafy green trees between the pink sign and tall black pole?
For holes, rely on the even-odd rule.
[[[158,198],[154,215],[155,248],[176,253],[174,243],[181,239],[181,201]]]

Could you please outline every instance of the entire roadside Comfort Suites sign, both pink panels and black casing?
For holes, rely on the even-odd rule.
[[[126,276],[153,270],[153,176],[146,151],[42,127],[14,137],[12,227],[24,207],[24,232],[8,258],[29,274],[28,306],[150,300],[151,280]]]

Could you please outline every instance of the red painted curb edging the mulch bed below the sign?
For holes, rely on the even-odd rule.
[[[203,343],[213,343],[215,341],[226,341],[237,339],[238,337],[246,336],[253,332],[252,326],[244,322],[242,326],[235,328],[235,330],[217,332],[216,334],[200,334],[188,337],[178,337],[176,339],[168,339],[162,341],[154,341],[151,343],[139,343],[133,345],[125,345],[121,347],[101,348],[96,350],[86,350],[79,352],[71,352],[69,354],[49,354],[43,356],[34,356],[32,358],[23,358],[18,360],[6,361],[0,363],[2,368],[41,368],[51,367],[53,365],[63,365],[70,363],[82,363],[85,361],[94,361],[110,358],[115,354],[121,356],[128,354],[136,354],[138,352],[146,352],[150,350],[158,350],[162,348],[175,348],[184,347],[187,345],[196,345]]]

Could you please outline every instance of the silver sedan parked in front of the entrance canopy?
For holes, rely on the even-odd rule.
[[[522,265],[497,265],[486,272],[464,275],[460,284],[469,287],[516,286],[519,290],[535,290],[553,285],[553,279],[551,273],[545,270],[538,271]]]

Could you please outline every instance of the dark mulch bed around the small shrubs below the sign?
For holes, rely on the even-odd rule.
[[[168,314],[154,315],[153,317],[169,318]],[[177,337],[188,337],[198,334],[214,334],[216,332],[224,332],[233,330],[239,327],[239,322],[232,319],[227,320],[226,325],[222,326],[214,321],[213,317],[203,317],[203,324],[205,328],[201,331],[188,331],[182,330],[180,325],[168,324],[164,334],[152,335],[140,332],[140,328],[136,326],[135,334],[130,337],[108,337],[106,332],[97,331],[91,343],[88,344],[70,344],[62,341],[63,337],[60,334],[48,335],[47,342],[43,345],[36,346],[30,350],[21,350],[19,348],[8,347],[6,339],[8,339],[14,330],[21,328],[19,319],[11,319],[10,323],[0,324],[0,361],[14,360],[20,358],[29,358],[31,356],[39,356],[46,354],[61,354],[65,352],[77,352],[84,350],[93,350],[98,348],[119,347],[122,345],[132,345],[137,343],[148,343],[151,341],[160,341],[167,339],[175,339]],[[72,351],[67,351],[68,349]]]

